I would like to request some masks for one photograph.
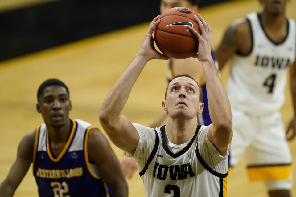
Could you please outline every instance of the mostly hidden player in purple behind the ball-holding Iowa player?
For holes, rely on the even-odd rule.
[[[173,8],[173,7],[187,7],[194,10],[198,13],[199,10],[199,3],[200,0],[161,0],[160,2],[160,14],[163,12]],[[212,52],[212,58],[215,62],[215,65],[218,69],[218,63],[216,62],[215,54]],[[195,81],[198,82],[202,92],[203,92],[203,99],[202,102],[204,103],[204,110],[203,113],[198,115],[198,123],[208,126],[212,123],[209,110],[208,110],[208,98],[206,94],[206,81],[204,78],[204,70],[202,63],[197,58],[187,58],[187,59],[169,59],[168,67],[167,67],[167,83],[171,82],[171,80],[175,77],[176,74],[185,73],[190,74]],[[162,114],[158,115],[156,119],[154,119],[148,127],[156,128],[167,123],[167,113],[163,112]],[[138,169],[137,163],[134,161],[133,158],[125,157],[121,160],[121,167],[122,171],[126,177],[131,178],[134,171]]]

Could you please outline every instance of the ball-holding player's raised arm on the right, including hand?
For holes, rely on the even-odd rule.
[[[228,144],[232,139],[230,103],[211,57],[212,30],[199,14],[198,17],[195,16],[194,18],[199,24],[201,35],[190,26],[188,26],[188,29],[198,38],[199,52],[194,57],[203,63],[207,84],[209,114],[212,120],[212,126],[208,131],[208,139],[216,146],[221,155],[226,155]]]

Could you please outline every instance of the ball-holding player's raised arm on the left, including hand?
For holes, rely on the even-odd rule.
[[[150,23],[140,50],[115,82],[99,111],[100,123],[111,141],[131,155],[134,155],[138,145],[139,134],[129,119],[121,115],[121,111],[146,63],[151,59],[169,59],[154,48],[152,33],[160,22],[158,18],[159,16]]]

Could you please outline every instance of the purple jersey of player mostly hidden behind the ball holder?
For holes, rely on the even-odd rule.
[[[218,62],[216,61],[216,56],[214,51],[211,49],[211,55],[212,58],[215,62],[215,66],[216,69],[219,73],[219,66],[218,66]],[[172,69],[172,60],[173,59],[169,59],[169,67],[168,67],[168,74],[167,74],[167,82],[170,83],[173,78],[175,77],[176,74],[178,73],[174,73],[173,69]],[[199,114],[197,116],[197,123],[200,125],[205,125],[208,126],[210,124],[212,124],[212,120],[210,118],[210,114],[209,114],[209,103],[208,103],[208,98],[207,98],[207,87],[206,87],[206,82],[204,81],[203,83],[199,84],[201,91],[203,92],[203,103],[204,103],[204,111],[202,114]]]

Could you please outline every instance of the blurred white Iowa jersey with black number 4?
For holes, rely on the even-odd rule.
[[[278,111],[285,101],[286,70],[295,60],[295,22],[287,19],[287,37],[273,43],[262,28],[259,16],[247,15],[253,47],[249,55],[234,55],[230,62],[227,93],[231,105],[263,114]]]

